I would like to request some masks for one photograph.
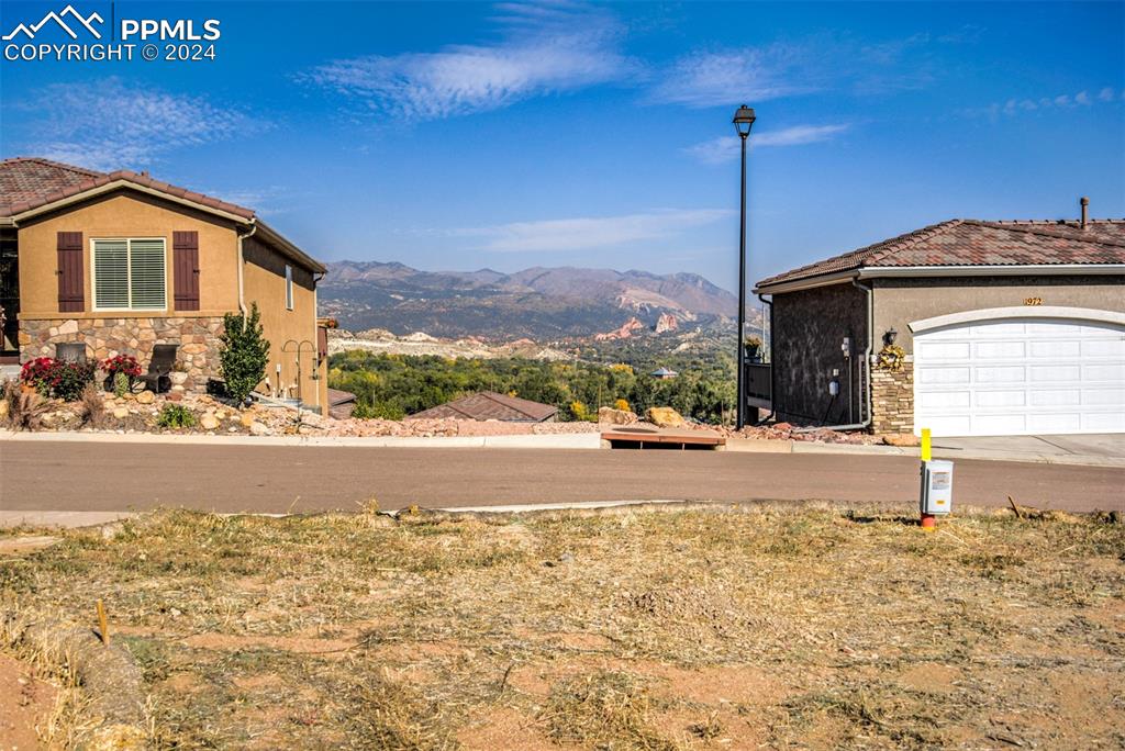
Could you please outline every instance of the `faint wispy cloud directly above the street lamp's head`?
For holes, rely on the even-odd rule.
[[[686,107],[762,102],[821,90],[881,93],[928,83],[929,37],[872,44],[820,35],[756,47],[695,51],[659,74],[648,99]]]

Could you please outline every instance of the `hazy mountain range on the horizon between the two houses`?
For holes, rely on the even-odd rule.
[[[420,271],[402,263],[340,261],[317,286],[320,308],[351,331],[530,337],[550,341],[611,332],[636,317],[706,327],[737,311],[738,299],[694,273],[541,268],[506,274]]]

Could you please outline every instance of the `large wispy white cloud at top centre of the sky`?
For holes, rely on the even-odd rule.
[[[618,81],[636,70],[608,11],[566,1],[502,4],[494,44],[338,60],[302,80],[407,120],[482,112]]]

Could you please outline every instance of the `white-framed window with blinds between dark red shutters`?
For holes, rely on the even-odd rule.
[[[93,307],[99,310],[163,310],[164,239],[94,239]]]

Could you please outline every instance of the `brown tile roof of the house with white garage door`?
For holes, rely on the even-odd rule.
[[[757,283],[772,287],[881,266],[992,266],[1125,263],[1125,219],[981,221],[951,219]]]

